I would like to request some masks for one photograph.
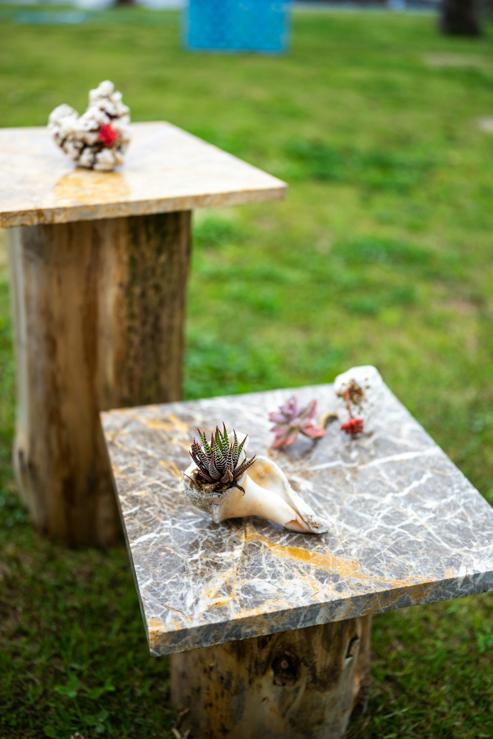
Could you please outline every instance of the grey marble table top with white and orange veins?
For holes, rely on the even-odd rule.
[[[333,408],[330,385],[297,389]],[[493,590],[493,508],[387,390],[377,430],[273,441],[291,392],[101,414],[143,621],[154,655]],[[196,427],[248,433],[330,522],[294,534],[259,518],[215,524],[183,497]]]

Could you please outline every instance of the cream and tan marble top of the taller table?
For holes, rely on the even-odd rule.
[[[286,185],[171,123],[133,123],[125,163],[77,169],[47,128],[0,129],[0,227],[279,200]]]

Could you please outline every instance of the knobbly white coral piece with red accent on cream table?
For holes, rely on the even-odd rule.
[[[50,114],[48,129],[55,143],[78,167],[111,171],[123,164],[130,142],[130,115],[121,97],[106,80],[90,90],[84,115],[69,105],[59,105]]]

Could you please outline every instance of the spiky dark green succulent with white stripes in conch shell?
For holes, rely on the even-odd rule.
[[[230,443],[228,432],[224,421],[222,422],[223,432],[220,432],[219,426],[216,426],[216,433],[211,434],[211,442],[209,443],[205,437],[205,433],[199,432],[200,440],[203,448],[197,440],[191,445],[190,456],[197,465],[197,475],[202,478],[204,483],[216,483],[225,488],[239,488],[243,494],[245,490],[237,482],[238,478],[250,467],[255,461],[255,455],[250,460],[243,460],[239,463],[243,446],[247,437],[238,443],[237,433],[233,429],[234,438]]]

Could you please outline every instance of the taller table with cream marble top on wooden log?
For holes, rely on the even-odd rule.
[[[75,170],[47,129],[0,129],[17,361],[14,466],[40,531],[120,531],[101,410],[180,398],[191,210],[284,183],[168,123],[132,126],[121,171]]]

